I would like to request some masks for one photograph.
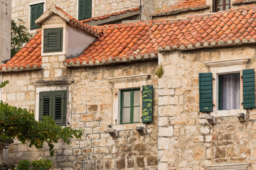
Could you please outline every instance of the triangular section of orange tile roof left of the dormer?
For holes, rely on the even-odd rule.
[[[21,48],[14,57],[0,66],[2,71],[18,71],[23,69],[38,69],[42,64],[40,31]]]

